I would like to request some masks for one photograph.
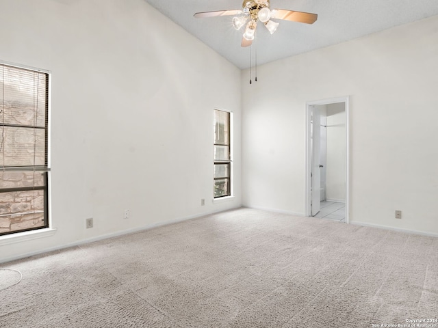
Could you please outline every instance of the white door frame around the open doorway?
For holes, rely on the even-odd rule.
[[[345,190],[345,221],[350,223],[350,96],[315,100],[306,102],[306,216],[311,217],[311,113],[312,106],[330,105],[338,102],[345,104],[346,131],[346,190]]]

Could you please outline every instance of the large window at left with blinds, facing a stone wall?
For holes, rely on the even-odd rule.
[[[49,74],[0,64],[0,236],[49,227]]]

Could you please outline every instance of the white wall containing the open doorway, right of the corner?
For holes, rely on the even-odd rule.
[[[244,204],[305,214],[306,102],[349,95],[350,221],[438,234],[437,40],[433,16],[243,71]]]

